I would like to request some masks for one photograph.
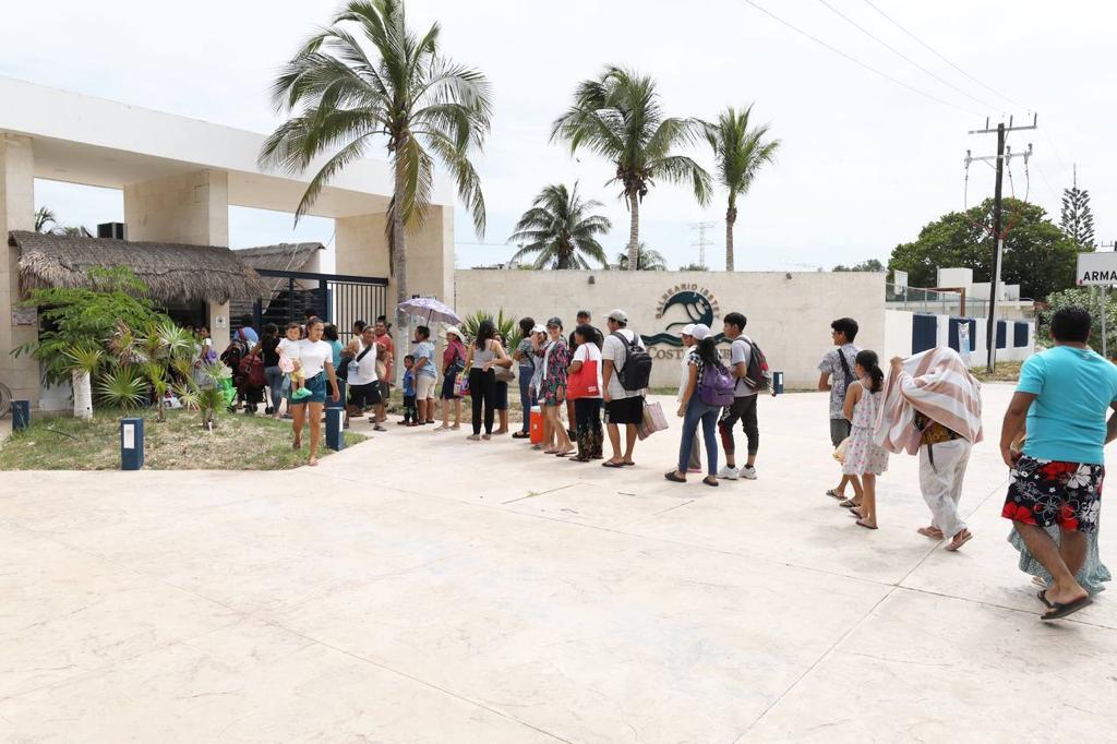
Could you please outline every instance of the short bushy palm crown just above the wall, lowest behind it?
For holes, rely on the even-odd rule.
[[[516,231],[508,238],[522,245],[513,260],[537,254],[537,269],[548,266],[588,269],[586,257],[607,266],[609,259],[596,236],[609,232],[613,223],[607,217],[590,213],[601,206],[594,199],[583,201],[577,194],[577,183],[569,191],[565,183],[546,187],[532,201],[532,208],[519,218]]]

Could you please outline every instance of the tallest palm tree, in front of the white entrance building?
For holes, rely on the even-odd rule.
[[[385,232],[398,304],[410,296],[405,230],[426,218],[436,159],[457,181],[478,237],[485,232],[485,199],[470,155],[489,131],[491,90],[483,73],[440,54],[439,31],[438,23],[422,37],[410,31],[402,0],[346,3],[273,84],[276,108],[289,118],[260,152],[261,165],[293,173],[331,153],[298,203],[298,220],[335,173],[375,142],[386,145],[394,178]],[[397,309],[399,349],[407,345],[407,325]]]

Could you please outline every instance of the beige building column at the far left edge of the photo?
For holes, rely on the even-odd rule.
[[[4,260],[0,261],[0,382],[11,389],[16,400],[39,404],[39,363],[29,355],[12,356],[11,351],[38,338],[34,309],[17,311],[19,292],[19,248],[8,245],[12,230],[35,229],[35,154],[31,139],[0,133],[0,228]]]

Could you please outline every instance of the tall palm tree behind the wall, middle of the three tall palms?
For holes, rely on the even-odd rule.
[[[551,140],[569,142],[571,154],[584,146],[615,165],[610,183],[621,184],[629,209],[628,254],[633,267],[640,242],[640,202],[657,179],[690,183],[699,203],[709,200],[709,174],[690,158],[674,154],[690,144],[695,133],[691,120],[663,118],[650,77],[614,66],[598,79],[579,84],[574,105],[551,127]]]

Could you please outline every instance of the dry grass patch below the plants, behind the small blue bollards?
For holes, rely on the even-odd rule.
[[[290,421],[265,416],[221,414],[213,433],[201,428],[197,411],[130,413],[144,419],[144,468],[151,470],[283,470],[306,464],[303,449],[290,448]],[[0,445],[0,470],[116,470],[121,467],[120,411],[98,411],[92,421],[68,416],[32,418],[31,426]],[[332,455],[323,437],[318,457]],[[363,441],[345,432],[345,445]]]

